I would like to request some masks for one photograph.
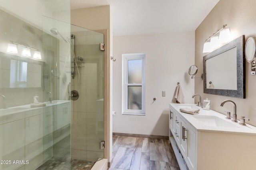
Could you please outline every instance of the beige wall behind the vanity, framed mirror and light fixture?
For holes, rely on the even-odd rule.
[[[196,29],[195,44],[195,64],[198,66],[198,75],[203,72],[203,44],[212,33],[216,32],[224,24],[228,24],[232,39],[245,35],[248,37],[256,36],[256,1],[255,0],[220,0],[212,9],[208,16]],[[195,80],[195,93],[202,96],[202,99],[209,98],[211,100],[211,109],[224,113],[224,111],[233,112],[231,104],[225,104],[221,107],[223,100],[230,99],[236,102],[238,119],[240,115],[250,118],[248,121],[251,125],[256,125],[256,92],[255,92],[256,76],[249,73],[249,64],[246,62],[246,99],[231,98],[225,96],[217,96],[203,93],[203,81]],[[198,101],[196,98],[195,101]]]

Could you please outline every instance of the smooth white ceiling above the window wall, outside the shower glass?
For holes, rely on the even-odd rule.
[[[70,0],[71,9],[110,5],[113,35],[194,31],[219,0]]]

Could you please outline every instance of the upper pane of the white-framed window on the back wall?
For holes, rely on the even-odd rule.
[[[142,60],[128,60],[128,83],[142,83]]]

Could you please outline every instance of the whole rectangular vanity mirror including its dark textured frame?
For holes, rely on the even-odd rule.
[[[244,35],[204,56],[204,93],[245,98]]]

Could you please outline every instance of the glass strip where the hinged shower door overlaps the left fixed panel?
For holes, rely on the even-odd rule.
[[[58,30],[57,34],[52,29]],[[62,35],[62,36],[60,36]],[[43,165],[38,169],[70,169],[70,23],[43,17]],[[53,161],[62,162],[49,167]]]

